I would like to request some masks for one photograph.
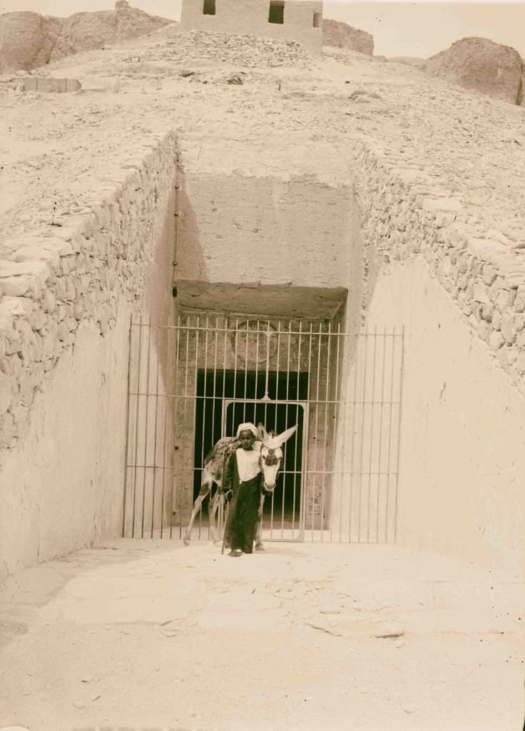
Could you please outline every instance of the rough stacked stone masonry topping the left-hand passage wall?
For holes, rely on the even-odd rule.
[[[81,323],[104,337],[122,298],[142,307],[175,180],[175,135],[151,135],[141,149],[120,179],[93,192],[93,205],[10,241],[0,261],[0,447],[23,435],[35,393],[74,348]]]

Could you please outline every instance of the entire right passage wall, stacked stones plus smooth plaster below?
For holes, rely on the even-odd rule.
[[[364,319],[405,326],[398,540],[525,568],[525,257],[421,164],[353,150]]]

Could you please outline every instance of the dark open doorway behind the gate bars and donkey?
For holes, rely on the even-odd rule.
[[[254,401],[264,397],[269,401]],[[264,528],[298,528],[301,501],[302,437],[304,406],[282,403],[306,401],[307,373],[277,373],[275,371],[199,371],[195,421],[195,455],[193,469],[193,499],[199,494],[202,464],[207,452],[221,436],[234,436],[239,423],[263,423],[267,431],[281,433],[297,425],[297,431],[283,445],[283,464],[277,479],[273,499],[264,505]],[[250,401],[251,400],[251,401]],[[280,401],[281,403],[272,403]],[[223,428],[223,407],[225,424]]]

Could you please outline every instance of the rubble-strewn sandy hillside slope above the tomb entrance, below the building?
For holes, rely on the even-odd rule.
[[[167,26],[35,74],[77,78],[84,91],[20,93],[0,83],[0,255],[20,235],[89,210],[145,137],[168,129],[180,132],[193,172],[321,180],[348,178],[350,143],[366,137],[459,197],[480,236],[498,230],[525,245],[525,107],[417,69]]]

